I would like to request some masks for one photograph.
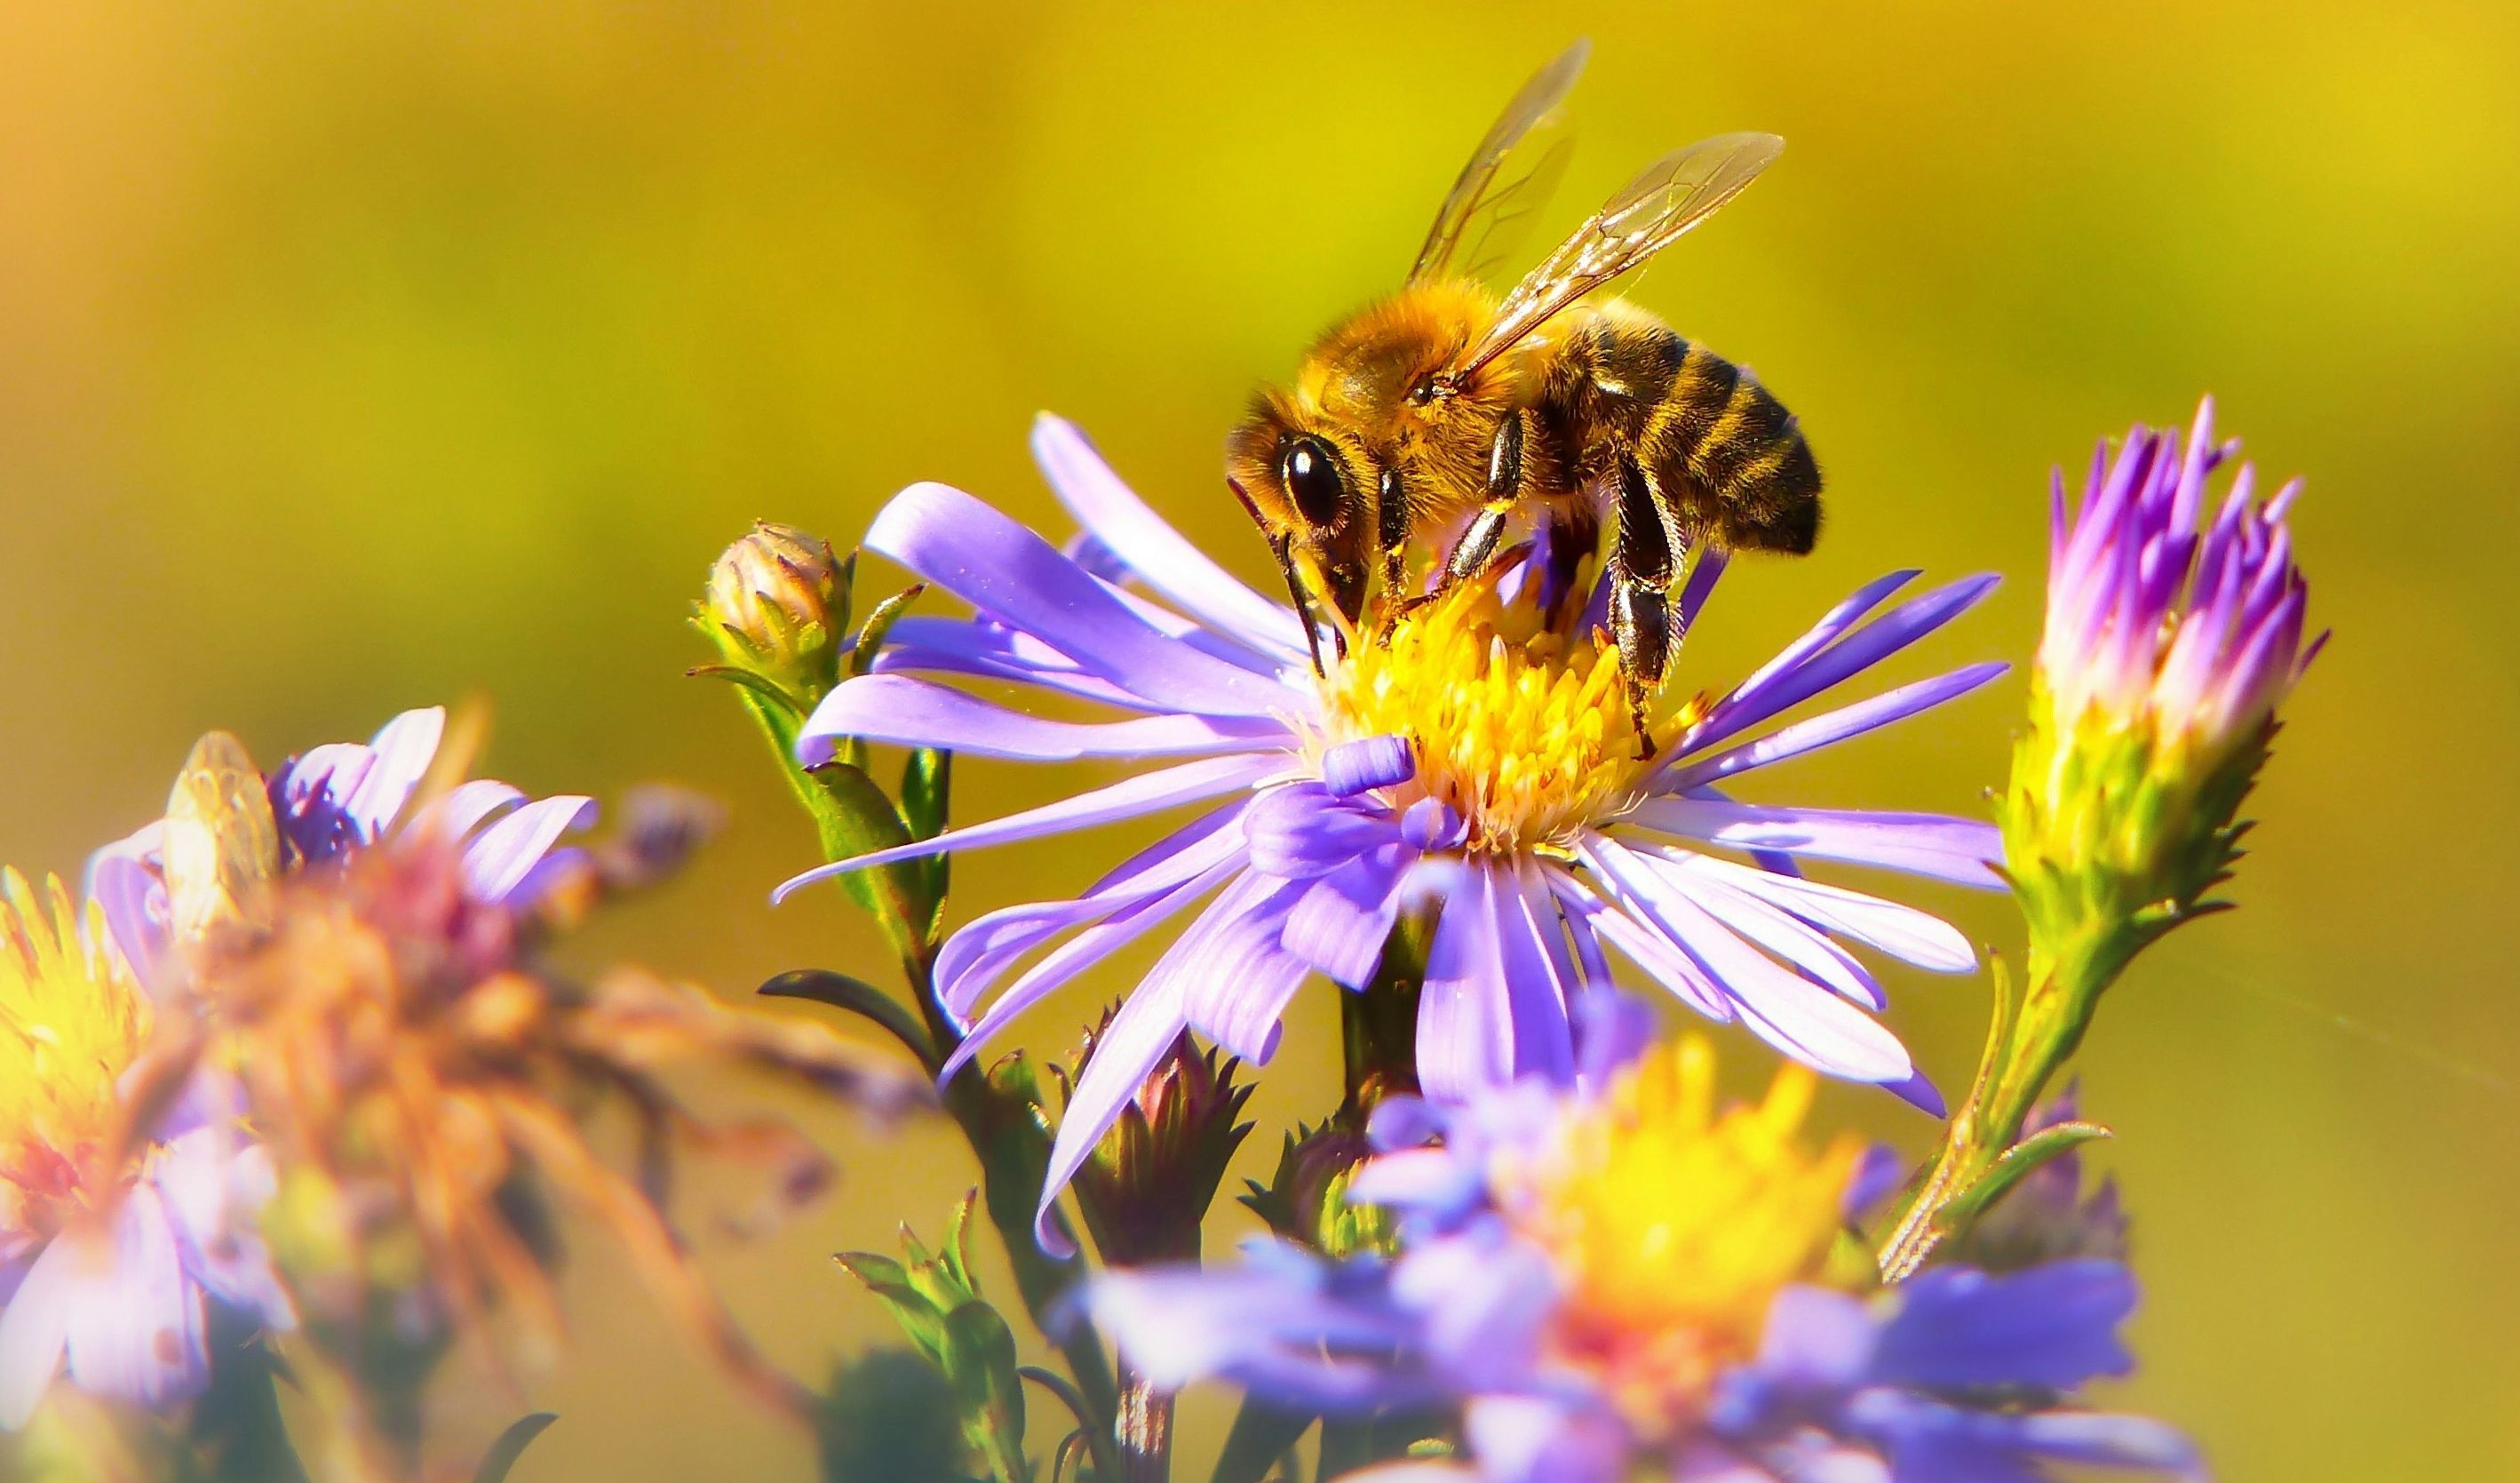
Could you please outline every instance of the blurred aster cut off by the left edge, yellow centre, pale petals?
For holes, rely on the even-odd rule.
[[[25,1425],[63,1367],[98,1395],[186,1400],[209,1380],[212,1304],[292,1322],[242,1223],[272,1165],[197,1087],[136,1160],[103,1168],[154,1006],[101,908],[0,880],[0,1428]]]

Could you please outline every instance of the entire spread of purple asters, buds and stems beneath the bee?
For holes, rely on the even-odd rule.
[[[1971,663],[1840,694],[1993,578],[1898,600],[1915,573],[1890,573],[1749,678],[1671,686],[1638,716],[1598,595],[1562,583],[1588,552],[1550,550],[1547,525],[1487,575],[1323,636],[1164,525],[1071,426],[1043,419],[1036,454],[1081,527],[1063,547],[922,484],[864,540],[920,588],[854,631],[854,560],[786,527],[728,550],[698,610],[723,658],[708,671],[741,686],[822,835],[827,863],[779,895],[839,878],[910,979],[907,1001],[814,971],[766,991],[864,1016],[917,1069],[648,976],[549,971],[537,943],[670,868],[690,812],[633,810],[617,837],[570,842],[592,800],[461,782],[438,711],[272,774],[212,734],[166,817],[96,855],[83,903],[8,875],[0,1425],[60,1395],[60,1372],[174,1412],[295,1332],[353,1422],[345,1475],[416,1475],[441,1354],[494,1319],[557,1334],[557,1195],[819,1430],[834,1480],[1028,1483],[1033,1382],[1076,1417],[1053,1475],[1152,1483],[1169,1395],[1197,1380],[1250,1395],[1217,1473],[1240,1483],[1293,1480],[1315,1422],[1320,1478],[2197,1468],[2177,1430],[2084,1405],[2132,1367],[2117,1329],[2134,1279],[2114,1188],[2084,1193],[2076,1168],[2104,1130],[2049,1079],[2102,991],[2228,878],[2276,706],[2316,653],[2291,489],[2260,502],[2240,469],[2205,507],[2230,457],[2210,409],[2185,439],[2102,449],[2079,507],[2059,477],[2031,724],[1993,822],[1736,797],[1996,678]],[[1683,573],[1683,631],[1724,575],[1721,552]],[[925,588],[973,613],[907,610]],[[874,784],[874,744],[910,749],[897,789]],[[950,754],[1149,767],[948,827]],[[1189,822],[1079,895],[945,931],[948,855],[1179,810]],[[1880,961],[1968,974],[1976,953],[1814,865],[2021,903],[2024,981],[1998,974],[1986,1062],[1913,1173],[1804,1140],[1804,1112],[1819,1077],[1945,1112],[1880,1019]],[[1167,931],[1058,1067],[1056,1105],[1021,1057],[978,1059]],[[1247,1132],[1237,1074],[1283,1049],[1315,976],[1343,991],[1346,1100],[1252,1185],[1275,1233],[1200,1266]],[[1724,1105],[1714,1052],[1661,1034],[1656,999],[1779,1052],[1767,1097]],[[872,1370],[816,1395],[753,1354],[663,1216],[658,1155],[771,1158],[784,1193],[822,1165],[759,1122],[713,1135],[658,1079],[685,1059],[869,1107],[940,1085],[1068,1375],[1016,1364],[973,1276],[975,1203],[937,1248],[905,1236],[900,1261],[844,1259],[932,1372],[900,1392],[922,1402]],[[640,1120],[640,1170],[587,1143],[590,1095]],[[1079,1236],[1099,1266],[1068,1261]],[[852,1410],[852,1385],[885,1400]],[[945,1428],[920,1453],[902,1438],[927,1412]]]

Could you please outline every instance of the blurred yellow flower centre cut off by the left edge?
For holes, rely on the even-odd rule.
[[[88,1160],[116,1135],[116,1082],[149,1034],[149,1001],[106,946],[103,913],[60,880],[38,895],[0,873],[0,1248],[50,1238]]]

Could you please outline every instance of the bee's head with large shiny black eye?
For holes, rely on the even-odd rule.
[[[1260,393],[1225,439],[1225,482],[1270,550],[1290,562],[1353,628],[1373,552],[1373,459],[1353,436],[1293,398]]]

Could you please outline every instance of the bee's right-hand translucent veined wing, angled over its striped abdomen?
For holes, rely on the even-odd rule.
[[[1628,189],[1610,197],[1610,204],[1504,295],[1497,323],[1472,346],[1457,373],[1477,371],[1550,323],[1557,310],[1671,247],[1759,179],[1782,151],[1784,139],[1774,134],[1719,134],[1648,164]]]

